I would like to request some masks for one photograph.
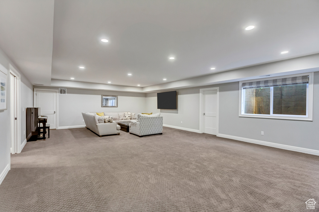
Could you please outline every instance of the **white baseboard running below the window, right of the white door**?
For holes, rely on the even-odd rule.
[[[291,150],[291,151],[295,151],[295,152],[302,152],[302,153],[307,153],[307,154],[319,155],[319,150],[314,150],[314,149],[294,147],[294,146],[289,146],[289,145],[285,145],[285,144],[271,143],[271,142],[262,141],[262,140],[242,138],[242,137],[237,137],[237,136],[233,136],[233,135],[218,134],[217,136],[222,137],[222,138],[229,138],[229,139],[233,139],[233,140],[240,140],[240,141],[253,143],[253,144],[260,144],[260,145],[268,146],[268,147],[275,147],[275,148],[286,149],[286,150]]]

